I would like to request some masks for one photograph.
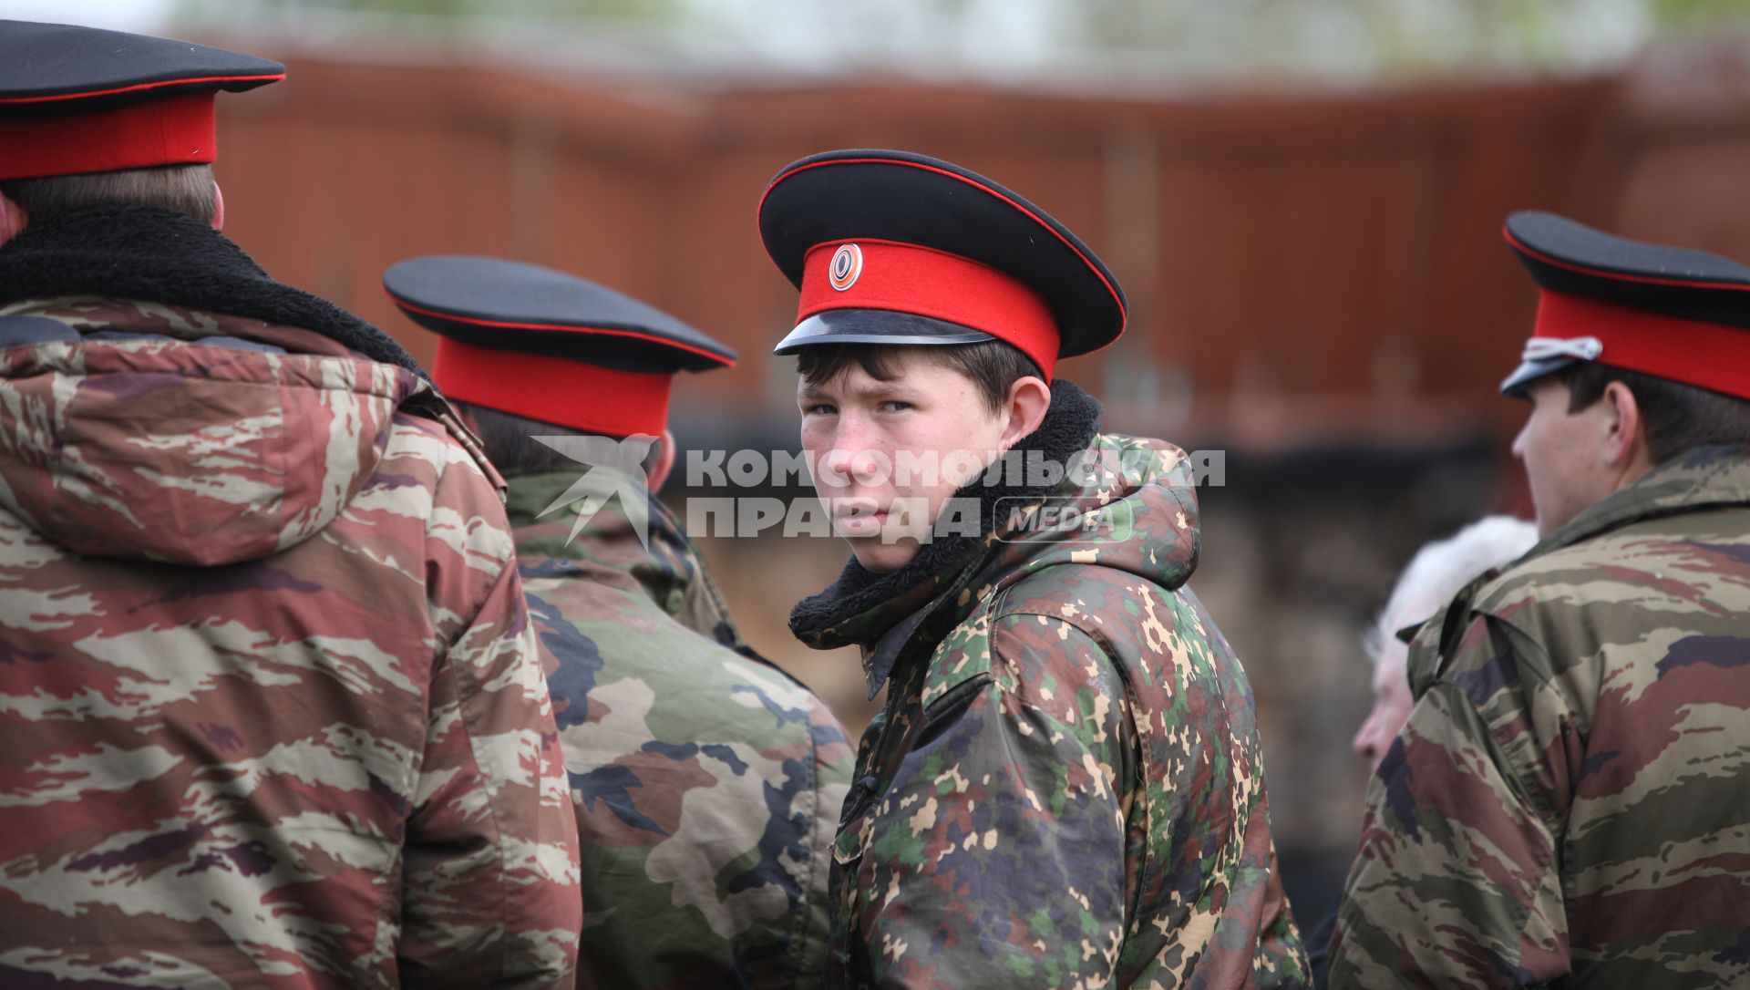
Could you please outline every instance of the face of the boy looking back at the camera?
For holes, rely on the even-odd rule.
[[[802,446],[833,528],[870,570],[917,556],[936,516],[992,460],[1006,416],[970,378],[917,353],[880,381],[852,364],[833,381],[800,381]]]

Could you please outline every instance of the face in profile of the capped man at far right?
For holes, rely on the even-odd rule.
[[[1600,441],[1608,432],[1606,402],[1568,411],[1568,387],[1545,376],[1531,385],[1531,415],[1514,439],[1514,457],[1526,465],[1536,532],[1547,537],[1612,492]]]

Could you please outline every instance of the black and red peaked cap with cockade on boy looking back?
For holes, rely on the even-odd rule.
[[[802,290],[775,353],[817,343],[1001,339],[1046,378],[1125,325],[1124,290],[1069,227],[957,164],[901,150],[831,150],[784,166],[760,236]]]

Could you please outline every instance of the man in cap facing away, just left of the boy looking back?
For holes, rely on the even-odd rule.
[[[740,644],[651,497],[676,462],[676,373],[733,352],[532,264],[422,257],[383,283],[441,334],[436,380],[509,478],[583,838],[579,983],[817,985],[850,743]]]

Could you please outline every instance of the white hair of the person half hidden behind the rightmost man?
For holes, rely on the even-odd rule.
[[[1398,635],[1398,628],[1430,617],[1484,570],[1519,560],[1535,544],[1533,523],[1512,516],[1488,516],[1444,540],[1423,546],[1398,575],[1386,607],[1362,637],[1367,656],[1377,663],[1381,647]],[[1405,616],[1410,609],[1426,609],[1426,614]]]

